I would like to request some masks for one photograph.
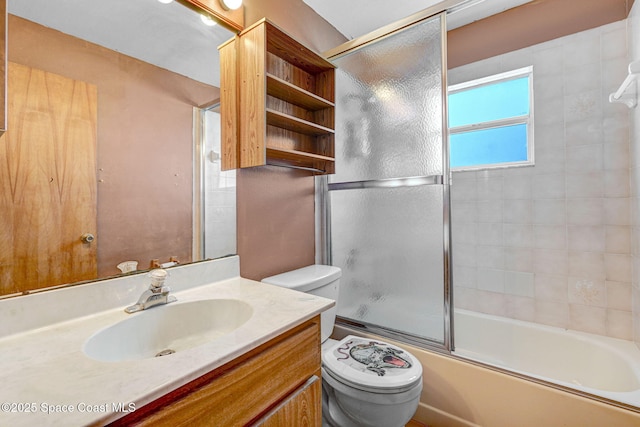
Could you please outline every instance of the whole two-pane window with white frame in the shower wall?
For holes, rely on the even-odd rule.
[[[449,87],[452,170],[533,164],[533,67]]]

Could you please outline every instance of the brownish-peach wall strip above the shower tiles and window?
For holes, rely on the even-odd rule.
[[[633,0],[536,0],[448,33],[448,67],[625,19]]]

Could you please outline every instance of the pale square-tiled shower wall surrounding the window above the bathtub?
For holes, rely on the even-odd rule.
[[[534,67],[535,166],[453,173],[456,307],[632,338],[627,53],[620,21],[449,71]]]

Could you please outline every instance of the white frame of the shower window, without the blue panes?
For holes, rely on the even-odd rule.
[[[450,169],[452,172],[477,171],[477,170],[484,170],[484,169],[500,169],[500,168],[535,165],[534,132],[533,132],[534,103],[533,103],[533,66],[532,65],[451,85],[448,87],[447,98],[454,93],[461,92],[464,90],[475,89],[482,86],[488,86],[491,84],[519,79],[522,77],[528,77],[529,79],[529,114],[524,114],[521,116],[513,116],[506,119],[491,120],[486,122],[473,123],[469,125],[456,126],[453,128],[449,127],[448,131],[449,131],[449,140],[450,140],[451,135],[455,135],[455,134],[524,124],[527,127],[527,160],[521,160],[516,162],[486,163],[481,165],[468,165],[468,166],[457,166],[457,167],[450,166]],[[450,147],[450,150],[451,150],[451,147]]]

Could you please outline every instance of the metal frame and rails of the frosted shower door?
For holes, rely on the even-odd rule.
[[[418,337],[409,333],[403,333],[383,325],[370,325],[360,323],[351,319],[337,316],[338,324],[362,330],[376,335],[381,335],[395,339],[397,341],[406,342],[408,344],[417,345],[419,347],[428,348],[438,352],[451,354],[454,350],[454,334],[453,334],[453,288],[452,288],[452,258],[451,258],[451,210],[450,210],[450,184],[451,171],[449,168],[449,132],[448,132],[448,108],[447,108],[447,23],[446,14],[467,3],[473,3],[474,0],[446,0],[435,6],[429,7],[410,17],[398,21],[394,24],[382,27],[368,35],[349,41],[324,53],[324,57],[329,61],[335,60],[341,56],[347,55],[357,49],[373,44],[381,39],[391,37],[400,33],[404,29],[412,27],[421,22],[434,19],[440,15],[440,25],[442,34],[442,175],[406,177],[378,179],[368,181],[354,181],[329,183],[326,175],[316,177],[316,261],[321,264],[332,264],[331,256],[331,200],[329,191],[362,189],[362,188],[398,188],[408,186],[421,185],[442,185],[442,215],[443,215],[443,315],[444,315],[444,334],[443,342]]]

